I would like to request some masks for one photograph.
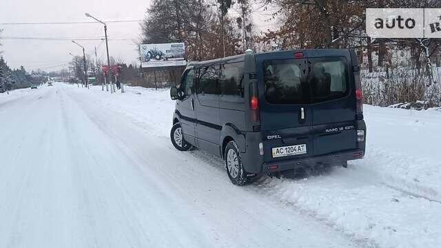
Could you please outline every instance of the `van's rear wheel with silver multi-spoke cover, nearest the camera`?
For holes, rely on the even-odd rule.
[[[229,141],[227,143],[225,146],[224,158],[229,180],[231,180],[234,185],[238,186],[249,183],[247,172],[243,169],[242,158],[240,158],[240,152],[236,142]]]

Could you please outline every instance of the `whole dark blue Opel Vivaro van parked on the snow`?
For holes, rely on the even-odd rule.
[[[352,50],[295,50],[189,63],[170,133],[181,151],[225,160],[244,185],[297,167],[365,155],[360,68]]]

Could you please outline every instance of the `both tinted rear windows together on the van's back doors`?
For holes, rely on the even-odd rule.
[[[305,104],[340,99],[349,93],[344,58],[313,59],[305,79],[298,59],[265,61],[263,79],[268,103]]]

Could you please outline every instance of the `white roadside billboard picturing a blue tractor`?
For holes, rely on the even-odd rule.
[[[142,68],[185,66],[184,43],[161,43],[139,45]]]

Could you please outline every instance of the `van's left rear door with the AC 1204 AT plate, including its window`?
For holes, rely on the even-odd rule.
[[[307,68],[302,52],[256,56],[265,162],[314,154]]]

